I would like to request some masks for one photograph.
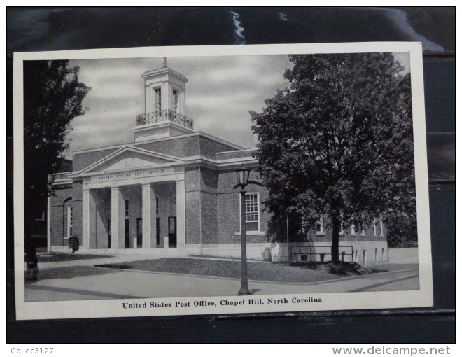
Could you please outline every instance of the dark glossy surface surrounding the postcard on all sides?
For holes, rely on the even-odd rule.
[[[15,321],[13,52],[355,41],[423,43],[433,308]],[[7,342],[455,342],[455,8],[8,8],[6,52]]]

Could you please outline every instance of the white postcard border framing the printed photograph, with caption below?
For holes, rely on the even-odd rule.
[[[172,297],[129,300],[83,300],[25,302],[24,266],[24,186],[23,178],[23,102],[22,62],[29,59],[97,59],[141,57],[201,57],[235,55],[286,55],[308,53],[410,52],[412,110],[414,120],[414,157],[416,175],[417,222],[419,235],[420,290],[258,295],[248,297]],[[111,48],[53,52],[21,52],[13,62],[14,134],[14,218],[15,218],[15,302],[18,320],[53,318],[103,318],[124,316],[170,316],[195,314],[247,314],[291,311],[328,311],[350,309],[394,309],[433,306],[433,278],[430,245],[430,214],[426,158],[426,123],[423,97],[421,43],[318,43],[290,45],[221,45],[153,48]],[[238,284],[238,283],[237,283]],[[252,298],[290,300],[287,304],[221,306],[221,300],[248,302]],[[292,302],[293,299],[321,299],[322,302]],[[214,302],[216,306],[194,306],[194,302]],[[144,304],[146,308],[124,309],[123,302]],[[151,303],[190,302],[190,307],[150,307]]]

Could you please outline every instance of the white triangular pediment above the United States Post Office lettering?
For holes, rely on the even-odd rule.
[[[153,151],[133,146],[124,146],[118,151],[106,156],[106,158],[103,158],[98,162],[94,162],[94,164],[86,167],[78,174],[118,172],[128,169],[145,169],[148,167],[158,167],[180,162],[183,162],[183,160],[169,155],[154,153]]]

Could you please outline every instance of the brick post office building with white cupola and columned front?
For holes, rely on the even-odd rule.
[[[171,80],[166,73],[174,71],[158,69],[144,78],[151,87],[153,83],[164,85]],[[174,77],[182,83],[184,94],[187,80],[177,74]],[[146,104],[152,104],[153,93],[146,90]],[[170,103],[170,93],[167,90],[162,94],[164,106]],[[181,103],[183,101],[184,97]],[[250,181],[259,182],[254,170],[257,149],[244,149],[209,134],[194,132],[192,120],[191,125],[188,121],[179,121],[185,114],[186,103],[181,105],[180,117],[174,112],[169,112],[167,117],[150,117],[147,105],[146,118],[155,120],[137,122],[137,127],[132,129],[134,142],[76,152],[73,167],[71,162],[64,162],[63,166],[72,172],[55,176],[55,196],[50,198],[49,207],[48,239],[52,248],[67,247],[67,215],[68,207],[72,207],[72,235],[88,250],[109,246],[153,251],[176,248],[176,251],[168,249],[171,256],[191,252],[240,255],[241,204],[244,202],[241,202],[240,188],[235,188],[235,170],[245,165],[252,169]],[[117,151],[120,153],[111,155]],[[94,165],[97,162],[103,164]],[[259,208],[258,215],[251,212],[246,222],[248,254],[260,259],[263,250],[272,246],[267,238],[270,214],[264,210],[267,190],[249,183],[246,192],[255,199],[252,208],[255,204]],[[130,202],[130,212],[125,208],[126,200]],[[170,229],[175,222],[172,217],[176,217],[174,232]],[[171,244],[170,239],[175,239],[175,235],[176,244]],[[142,244],[138,240],[140,236]],[[327,244],[330,239],[327,231],[325,235],[311,235],[316,244]],[[368,229],[363,237],[360,232],[357,237],[349,233],[341,237],[346,243],[359,240],[367,244],[358,246],[358,252],[363,252],[364,246],[372,249],[374,241],[379,241],[376,246],[381,247],[386,241],[386,232],[383,237],[377,237]]]

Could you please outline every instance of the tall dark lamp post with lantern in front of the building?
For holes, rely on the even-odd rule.
[[[241,290],[237,295],[252,295],[247,283],[247,243],[246,243],[246,186],[250,170],[241,167],[236,170],[237,185],[241,187]]]

